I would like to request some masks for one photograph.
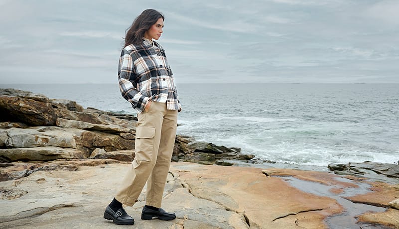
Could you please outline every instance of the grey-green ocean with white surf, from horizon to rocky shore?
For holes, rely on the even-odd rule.
[[[135,114],[117,84],[0,84]],[[326,167],[399,160],[399,84],[179,84],[177,133],[262,160]]]

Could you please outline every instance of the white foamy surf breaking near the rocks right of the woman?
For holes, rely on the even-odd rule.
[[[260,160],[270,160],[278,163],[293,165],[307,165],[326,167],[330,163],[347,164],[349,162],[360,163],[373,161],[379,163],[398,163],[398,151],[378,153],[372,150],[351,149],[344,147],[332,149],[322,144],[298,144],[282,142],[280,144],[265,144],[273,137],[263,138],[262,141],[254,140],[253,136],[236,135],[230,137],[217,137],[212,135],[196,137],[199,141],[211,141],[217,145],[226,147],[239,147],[242,153],[253,154]],[[213,139],[213,140],[210,140]]]

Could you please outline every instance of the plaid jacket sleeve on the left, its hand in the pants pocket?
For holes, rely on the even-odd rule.
[[[122,50],[119,58],[118,78],[119,78],[119,90],[125,100],[132,104],[132,107],[141,113],[149,98],[143,96],[137,90],[137,74],[134,71],[133,60],[128,51]]]

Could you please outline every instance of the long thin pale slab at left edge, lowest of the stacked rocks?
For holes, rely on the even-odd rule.
[[[85,158],[81,151],[54,146],[0,149],[1,162],[51,161],[56,159]]]

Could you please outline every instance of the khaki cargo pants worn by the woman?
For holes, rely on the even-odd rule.
[[[177,110],[152,101],[137,118],[135,158],[115,199],[133,206],[147,182],[146,205],[160,208],[175,145]]]

